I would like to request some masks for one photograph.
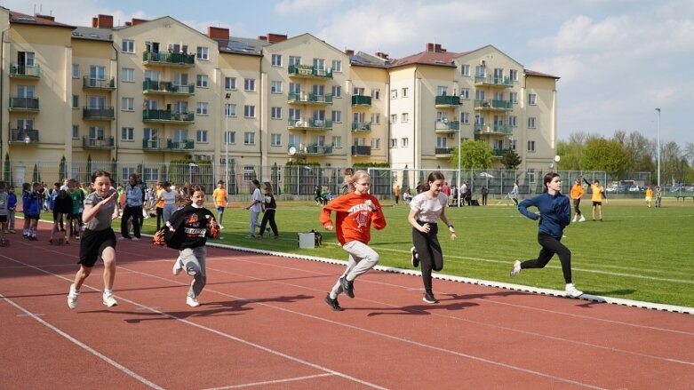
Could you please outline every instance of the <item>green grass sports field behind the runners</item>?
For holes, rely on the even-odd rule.
[[[562,290],[557,257],[545,269],[524,270],[514,279],[508,276],[515,259],[534,259],[538,255],[538,227],[515,207],[498,202],[491,200],[487,207],[446,210],[458,239],[451,241],[446,232],[439,234],[444,254],[442,273]],[[380,254],[380,265],[411,268],[409,208],[403,203],[397,207],[392,204],[384,203],[388,226],[372,231],[371,246]],[[347,259],[334,232],[326,232],[318,223],[320,207],[315,203],[278,203],[279,240],[268,235],[263,240],[245,238],[250,213],[241,206],[233,203],[225,213],[223,243]],[[642,200],[610,200],[603,206],[603,222],[590,219],[589,200],[584,200],[581,210],[586,222],[571,224],[562,239],[572,252],[573,279],[579,289],[613,298],[694,306],[694,202],[666,199],[662,208],[649,209]],[[145,232],[153,233],[155,226],[155,219],[146,219]],[[323,247],[299,250],[297,233],[312,228],[323,235]]]

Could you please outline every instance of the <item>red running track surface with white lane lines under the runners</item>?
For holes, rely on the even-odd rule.
[[[177,252],[119,242],[118,306],[98,263],[76,310],[78,245],[0,248],[2,388],[694,388],[694,315],[209,248],[203,304]]]

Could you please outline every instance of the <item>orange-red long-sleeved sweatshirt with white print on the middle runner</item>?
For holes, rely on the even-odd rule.
[[[342,245],[351,241],[369,243],[371,224],[378,230],[386,227],[379,200],[370,194],[350,192],[323,206],[320,218],[323,227],[332,225],[331,211],[335,211],[335,235]]]

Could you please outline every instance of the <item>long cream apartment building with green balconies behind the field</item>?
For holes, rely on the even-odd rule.
[[[15,181],[63,156],[148,181],[185,160],[210,161],[220,177],[229,163],[261,178],[259,167],[298,161],[447,168],[460,139],[484,140],[498,162],[513,149],[522,169],[554,156],[558,77],[491,45],[427,44],[394,60],[310,34],[203,34],[171,17],[71,27],[3,8],[2,26],[0,152]]]

